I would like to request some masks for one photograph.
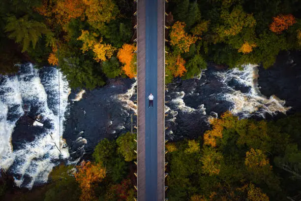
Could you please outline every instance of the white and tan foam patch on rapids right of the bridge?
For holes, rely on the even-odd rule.
[[[222,82],[225,83],[227,93],[222,94],[225,100],[232,102],[230,111],[240,116],[248,118],[251,115],[259,115],[265,118],[266,113],[271,115],[277,112],[286,113],[291,107],[285,106],[285,100],[280,100],[276,96],[270,98],[261,94],[258,86],[258,68],[256,65],[246,65],[243,70],[238,68],[230,69],[225,72],[216,72]],[[227,85],[230,80],[236,80],[243,86],[249,87],[247,93],[235,90]]]

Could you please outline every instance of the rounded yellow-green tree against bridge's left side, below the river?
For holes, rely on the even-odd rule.
[[[134,150],[137,149],[137,143],[134,141],[136,134],[127,132],[117,138],[118,152],[124,157],[125,161],[133,161],[137,158],[137,154]]]

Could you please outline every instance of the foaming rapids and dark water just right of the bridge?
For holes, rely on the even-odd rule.
[[[285,114],[291,107],[276,96],[263,96],[257,78],[255,65],[246,65],[242,70],[208,67],[198,78],[169,84],[165,94],[165,100],[169,101],[166,103],[166,137],[199,136],[209,129],[209,118],[217,118],[227,110],[240,118]]]

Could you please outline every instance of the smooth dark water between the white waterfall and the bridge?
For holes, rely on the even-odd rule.
[[[103,138],[113,139],[130,131],[130,114],[134,111],[126,108],[127,103],[117,96],[127,94],[134,83],[134,79],[111,79],[102,88],[86,91],[80,101],[73,102],[75,92],[70,94],[69,114],[64,124],[63,137],[71,149],[69,152],[75,152],[71,154],[73,159],[84,152],[92,153],[94,147]],[[135,93],[130,95],[132,97],[129,101],[136,100]],[[136,125],[135,115],[133,115],[133,125]],[[76,139],[79,137],[87,139],[87,144],[78,142]],[[84,149],[83,145],[85,145]]]

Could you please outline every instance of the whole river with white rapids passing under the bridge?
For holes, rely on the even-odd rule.
[[[198,137],[210,128],[210,118],[227,110],[257,119],[301,111],[300,52],[282,53],[269,70],[242,68],[209,66],[198,78],[167,85],[166,138]],[[136,84],[119,78],[92,91],[70,90],[56,68],[32,64],[0,76],[0,167],[14,175],[17,186],[32,188],[47,182],[60,162],[89,159],[102,138],[130,131]]]

